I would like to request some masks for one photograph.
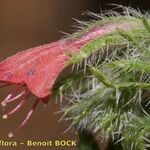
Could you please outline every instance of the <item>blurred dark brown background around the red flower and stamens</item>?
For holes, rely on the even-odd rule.
[[[100,12],[101,9],[111,9],[112,6],[108,5],[110,3],[130,5],[143,11],[149,9],[148,2],[148,0],[0,0],[0,60],[18,51],[55,41],[63,36],[60,31],[72,33],[74,28],[71,25],[74,21],[71,18],[87,19],[81,15],[83,11]],[[10,88],[0,90],[0,98],[3,99],[9,91]],[[0,139],[9,140],[7,133],[19,125],[30,107],[31,103],[7,121],[0,119]],[[53,115],[57,110],[59,104],[55,104],[55,100],[52,100],[46,108],[40,104],[32,119],[13,140],[24,142],[28,139],[76,139],[74,132],[63,134],[68,126],[65,122],[58,123],[61,115]],[[2,115],[2,111],[0,114]],[[17,150],[19,149],[26,147],[20,146]]]

